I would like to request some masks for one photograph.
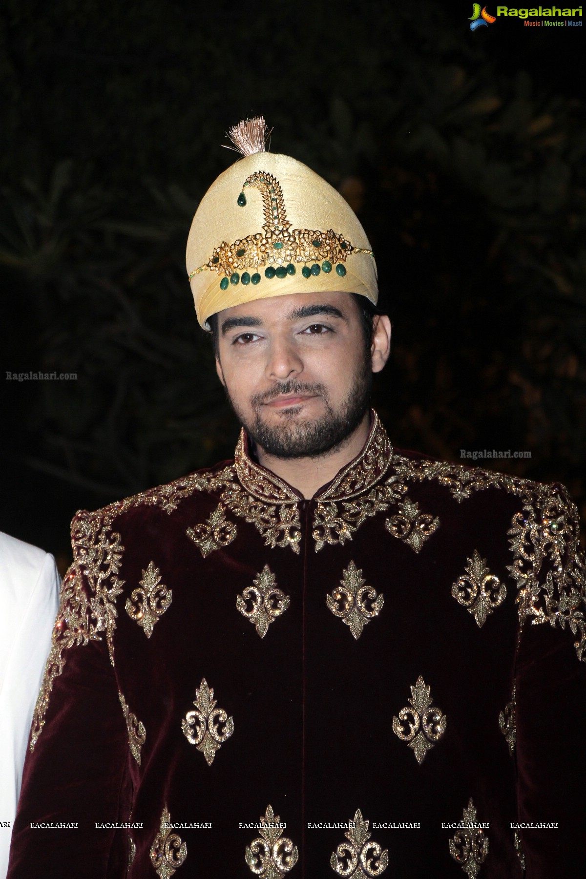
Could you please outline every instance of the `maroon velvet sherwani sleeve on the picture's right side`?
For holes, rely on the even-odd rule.
[[[533,512],[525,516],[530,524]],[[586,869],[584,561],[574,505],[545,512],[525,542],[531,564],[516,671],[517,833],[527,879],[578,879]]]

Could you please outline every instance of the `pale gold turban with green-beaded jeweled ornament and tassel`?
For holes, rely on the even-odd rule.
[[[261,123],[264,133],[256,119],[230,136],[255,125],[258,134]],[[201,326],[223,309],[293,293],[341,290],[376,303],[373,251],[346,200],[307,165],[264,152],[264,137],[252,141],[235,140],[249,154],[213,182],[193,217],[186,263]]]

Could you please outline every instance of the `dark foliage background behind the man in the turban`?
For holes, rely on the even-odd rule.
[[[198,201],[263,113],[344,194],[394,321],[394,443],[568,483],[586,439],[582,28],[470,4],[5,0],[0,528],[68,555],[70,516],[232,453],[184,272]]]

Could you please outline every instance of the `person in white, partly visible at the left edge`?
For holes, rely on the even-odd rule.
[[[8,868],[28,731],[60,582],[53,556],[0,533],[0,876]]]

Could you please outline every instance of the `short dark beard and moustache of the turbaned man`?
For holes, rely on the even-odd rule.
[[[263,394],[250,397],[254,418],[250,421],[242,416],[228,389],[228,402],[257,446],[275,458],[317,458],[335,452],[351,437],[370,406],[373,373],[370,352],[364,358],[354,375],[351,389],[344,401],[335,409],[330,402],[328,389],[321,382],[310,383],[289,379],[275,382]],[[322,398],[325,412],[320,418],[298,420],[302,407],[292,405],[279,412],[279,424],[267,424],[262,417],[264,403],[276,397],[289,394],[310,394]]]

